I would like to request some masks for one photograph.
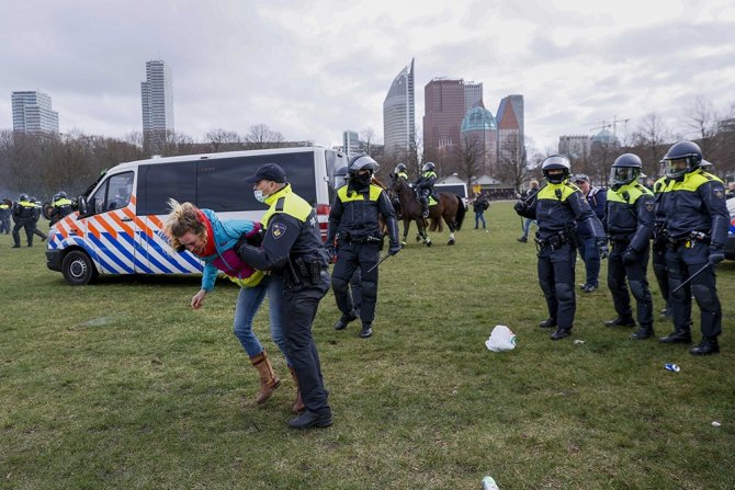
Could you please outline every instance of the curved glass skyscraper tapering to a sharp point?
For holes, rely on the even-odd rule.
[[[408,152],[416,143],[414,59],[391,83],[383,101],[383,141],[387,155]]]

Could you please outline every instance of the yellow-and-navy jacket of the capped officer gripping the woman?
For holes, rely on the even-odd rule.
[[[295,194],[291,184],[268,196],[265,204],[270,207],[260,220],[265,228],[262,244],[260,248],[241,246],[240,258],[259,271],[276,274],[290,269],[290,260],[326,267],[327,251],[312,205]]]

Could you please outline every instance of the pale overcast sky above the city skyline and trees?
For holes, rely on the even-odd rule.
[[[723,116],[735,104],[732,0],[0,5],[0,128],[12,128],[12,91],[41,90],[63,133],[140,132],[151,59],[171,67],[176,130],[195,140],[267,124],[289,140],[329,146],[370,127],[382,141],[383,100],[411,58],[417,129],[427,82],[463,78],[483,82],[494,115],[502,96],[523,94],[525,134],[541,150],[613,116],[630,119],[629,133],[652,112],[676,128],[697,98]]]

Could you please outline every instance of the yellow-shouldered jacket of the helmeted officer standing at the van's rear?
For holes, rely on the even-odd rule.
[[[343,243],[368,237],[382,238],[378,215],[385,218],[388,231],[397,226],[396,213],[383,187],[370,184],[364,191],[355,191],[351,182],[341,186],[329,212],[327,243],[332,243],[337,233]],[[391,233],[392,240],[396,238],[397,232]]]

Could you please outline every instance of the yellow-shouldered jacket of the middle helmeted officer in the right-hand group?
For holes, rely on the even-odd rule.
[[[654,194],[637,182],[613,186],[608,192],[608,235],[612,241],[627,241],[643,251],[654,226]]]

